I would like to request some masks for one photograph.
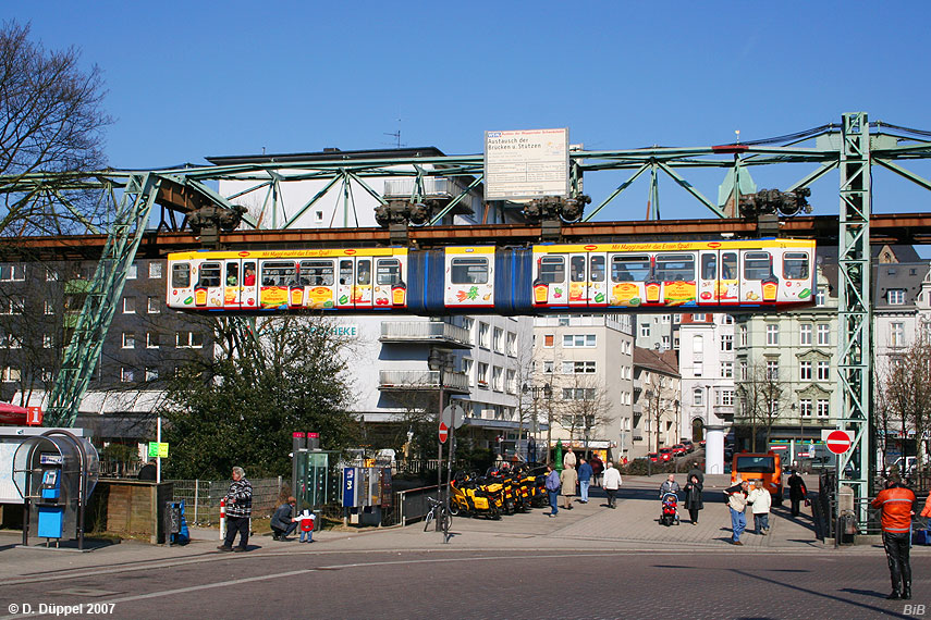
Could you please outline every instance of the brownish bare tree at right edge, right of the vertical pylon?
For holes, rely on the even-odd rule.
[[[931,427],[931,339],[920,332],[915,344],[891,360],[881,390],[889,411],[902,424],[903,437],[915,431],[918,466],[928,451],[926,433]],[[903,439],[904,441],[904,439]],[[923,449],[922,449],[923,448]],[[906,455],[903,455],[906,456]]]

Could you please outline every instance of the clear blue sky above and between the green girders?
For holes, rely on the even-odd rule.
[[[838,123],[931,129],[924,2],[7,3],[103,71],[115,168],[402,144],[480,152],[483,132],[568,127],[587,149],[708,146]],[[931,165],[906,164],[924,176]],[[754,172],[779,187],[810,168]],[[604,173],[601,173],[604,174]],[[586,178],[596,201],[629,173]],[[716,196],[723,173],[689,179]],[[814,187],[836,213],[837,176]],[[877,211],[931,194],[874,171]],[[602,219],[644,216],[646,178]],[[664,218],[698,216],[663,185]]]

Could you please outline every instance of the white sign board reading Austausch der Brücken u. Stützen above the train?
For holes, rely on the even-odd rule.
[[[485,133],[485,199],[569,194],[568,128]]]

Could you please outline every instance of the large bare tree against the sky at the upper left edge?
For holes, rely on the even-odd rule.
[[[0,29],[0,237],[70,232],[99,220],[75,173],[105,165],[100,70],[83,71],[75,48],[47,50],[29,26]],[[33,173],[41,183],[24,183]]]

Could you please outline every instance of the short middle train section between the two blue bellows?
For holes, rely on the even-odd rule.
[[[446,248],[446,308],[494,307],[494,248]]]

